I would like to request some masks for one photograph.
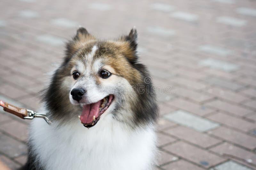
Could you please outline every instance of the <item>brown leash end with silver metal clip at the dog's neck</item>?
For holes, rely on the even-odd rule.
[[[35,117],[40,117],[40,118],[43,118],[49,125],[52,124],[52,122],[50,121],[50,119],[48,117],[46,117],[43,114],[38,114],[38,113],[34,112],[33,110],[19,108],[12,104],[4,102],[2,100],[0,100],[0,106],[2,106],[4,108],[4,111],[9,112],[9,113],[11,113],[15,116],[18,116],[22,119],[34,119]]]

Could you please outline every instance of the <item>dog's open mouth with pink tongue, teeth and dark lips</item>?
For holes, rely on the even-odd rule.
[[[78,116],[84,127],[94,126],[99,121],[100,115],[108,109],[113,99],[114,96],[109,95],[96,103],[84,105],[81,116]]]

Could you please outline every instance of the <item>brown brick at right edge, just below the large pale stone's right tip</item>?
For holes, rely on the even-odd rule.
[[[209,133],[248,149],[256,148],[256,138],[226,127],[217,128]]]

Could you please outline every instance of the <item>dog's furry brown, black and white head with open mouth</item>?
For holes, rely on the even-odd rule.
[[[135,28],[127,36],[108,41],[98,40],[85,28],[79,28],[67,43],[67,56],[44,97],[52,100],[48,109],[58,112],[52,117],[79,115],[88,128],[107,116],[128,124],[154,122],[155,95],[151,82],[144,82],[148,72],[137,62],[136,49]]]

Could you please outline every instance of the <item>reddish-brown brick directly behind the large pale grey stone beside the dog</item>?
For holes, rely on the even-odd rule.
[[[187,110],[188,112],[192,112],[199,116],[204,116],[204,115],[207,115],[207,114],[215,111],[214,109],[206,107],[205,105],[192,103],[188,100],[184,100],[181,98],[174,99],[174,100],[168,102],[168,104],[171,106],[174,106],[176,108],[180,108],[182,110]]]

